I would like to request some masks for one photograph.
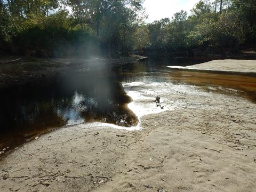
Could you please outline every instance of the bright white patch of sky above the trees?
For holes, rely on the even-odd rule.
[[[162,18],[172,18],[173,14],[181,10],[190,13],[193,6],[199,0],[145,0],[144,7],[148,14],[146,22],[160,20]]]

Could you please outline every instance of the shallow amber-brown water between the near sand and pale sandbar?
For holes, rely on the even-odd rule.
[[[167,76],[174,83],[198,85],[207,92],[238,95],[256,102],[256,77],[179,70],[171,71]]]

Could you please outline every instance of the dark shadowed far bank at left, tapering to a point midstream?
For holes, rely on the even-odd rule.
[[[90,73],[90,69],[119,66],[141,59],[147,59],[147,57],[131,55],[116,59],[5,58],[0,59],[0,87],[23,84],[57,74],[77,73],[81,68],[86,69],[84,73]]]

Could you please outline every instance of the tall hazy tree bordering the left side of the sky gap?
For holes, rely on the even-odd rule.
[[[109,56],[129,52],[142,0],[70,0],[74,17],[94,29],[103,51]],[[104,31],[104,33],[101,33]]]

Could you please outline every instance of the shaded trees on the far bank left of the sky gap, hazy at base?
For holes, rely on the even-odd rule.
[[[0,50],[43,57],[133,51],[142,0],[0,0]]]

